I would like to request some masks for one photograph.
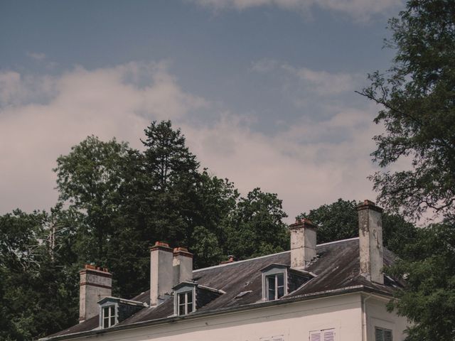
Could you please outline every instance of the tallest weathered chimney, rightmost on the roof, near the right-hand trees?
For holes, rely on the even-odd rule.
[[[384,284],[382,275],[382,208],[365,200],[358,205],[358,234],[360,249],[360,275]]]

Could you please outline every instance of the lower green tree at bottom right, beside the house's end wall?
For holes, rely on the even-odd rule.
[[[454,340],[454,249],[455,226],[432,224],[418,229],[403,247],[403,258],[387,269],[391,276],[406,278],[406,287],[388,305],[412,323],[406,340]]]

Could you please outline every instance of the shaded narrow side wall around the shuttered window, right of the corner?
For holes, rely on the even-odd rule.
[[[385,307],[388,299],[378,298],[376,296],[365,296],[365,309],[367,313],[367,332],[368,341],[375,340],[375,327],[385,328],[392,330],[392,340],[402,341],[405,340],[403,332],[408,325],[407,319],[398,316],[395,313],[387,312]]]

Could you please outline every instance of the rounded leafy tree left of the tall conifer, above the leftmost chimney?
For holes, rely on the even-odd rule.
[[[122,170],[129,147],[115,139],[100,141],[88,136],[57,159],[59,200],[85,214],[85,231],[80,241],[86,261],[106,262],[104,248],[112,233],[112,220],[118,212]],[[82,249],[80,250],[82,251]]]

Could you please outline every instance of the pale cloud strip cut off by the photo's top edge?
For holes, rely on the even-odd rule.
[[[356,21],[368,20],[380,13],[390,13],[400,0],[193,0],[196,4],[215,11],[237,9],[243,11],[259,6],[276,6],[287,11],[307,12],[319,8],[342,13]]]

